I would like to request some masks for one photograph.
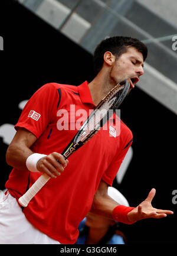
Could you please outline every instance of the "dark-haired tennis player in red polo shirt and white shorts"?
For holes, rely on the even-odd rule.
[[[13,169],[0,203],[1,244],[74,244],[78,225],[89,211],[127,224],[173,213],[152,207],[155,189],[135,208],[118,205],[107,195],[133,141],[132,132],[116,115],[108,129],[101,129],[71,155],[69,163],[60,154],[77,133],[82,111],[89,115],[123,80],[130,83],[130,90],[135,87],[147,53],[137,39],[107,38],[94,52],[96,76],[90,83],[48,83],[32,95],[6,152],[6,162]],[[22,208],[19,197],[41,173],[53,179]]]

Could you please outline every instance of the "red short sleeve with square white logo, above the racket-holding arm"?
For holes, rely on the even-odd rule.
[[[58,91],[52,83],[42,86],[25,105],[15,129],[25,128],[39,138],[57,116],[58,101]]]

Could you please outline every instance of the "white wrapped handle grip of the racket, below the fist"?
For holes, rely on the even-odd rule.
[[[50,177],[47,174],[42,174],[34,184],[30,187],[30,189],[27,190],[27,192],[19,197],[18,202],[20,205],[27,207],[28,203],[31,201],[31,199],[42,189],[42,187],[45,185],[45,183],[48,182]]]

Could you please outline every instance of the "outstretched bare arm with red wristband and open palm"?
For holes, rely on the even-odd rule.
[[[99,188],[94,195],[91,212],[127,224],[148,218],[160,219],[173,214],[171,210],[161,210],[152,207],[151,202],[156,193],[155,189],[150,190],[148,197],[140,205],[131,208],[119,206],[117,202],[109,197],[107,195],[108,186],[104,180],[101,180]]]

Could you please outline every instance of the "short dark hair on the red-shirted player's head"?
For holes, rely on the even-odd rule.
[[[103,56],[106,51],[110,51],[116,56],[116,59],[120,57],[123,53],[126,53],[127,47],[135,47],[137,51],[143,54],[143,61],[146,60],[148,55],[148,48],[136,38],[131,37],[109,37],[101,41],[101,43],[96,47],[93,55],[94,71],[99,73],[101,67],[103,66]]]

